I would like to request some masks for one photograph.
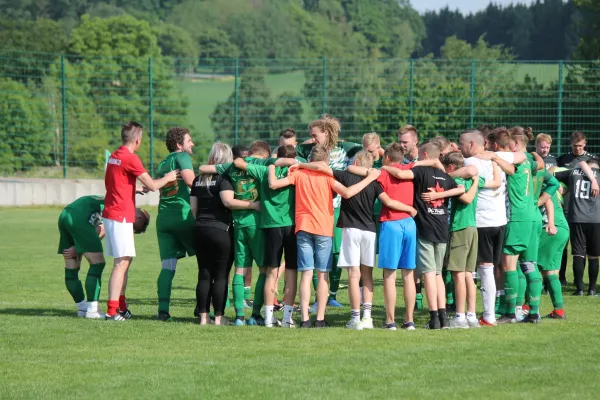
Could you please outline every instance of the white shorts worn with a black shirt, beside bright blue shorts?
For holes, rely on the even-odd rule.
[[[375,232],[357,228],[342,228],[342,246],[338,267],[375,266]]]

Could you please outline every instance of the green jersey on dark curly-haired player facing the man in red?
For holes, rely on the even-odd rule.
[[[194,170],[192,157],[186,152],[178,151],[171,153],[158,164],[156,176],[162,178],[174,170]],[[158,203],[159,214],[176,215],[182,220],[187,220],[191,212],[190,189],[182,178],[167,183],[160,189],[160,201]]]

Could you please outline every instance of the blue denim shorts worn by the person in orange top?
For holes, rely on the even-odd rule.
[[[298,247],[298,272],[331,271],[333,254],[333,238],[330,236],[319,236],[299,231],[296,234],[296,245]]]

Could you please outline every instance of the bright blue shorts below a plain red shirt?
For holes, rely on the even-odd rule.
[[[417,225],[412,218],[381,223],[379,231],[379,268],[415,269]]]

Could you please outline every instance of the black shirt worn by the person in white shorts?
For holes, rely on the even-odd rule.
[[[346,187],[350,187],[363,180],[358,175],[347,171],[333,171],[334,178]],[[367,185],[356,196],[350,199],[342,199],[338,228],[356,228],[363,231],[375,232],[376,225],[373,220],[373,205],[375,199],[383,193],[381,185],[376,181]]]

